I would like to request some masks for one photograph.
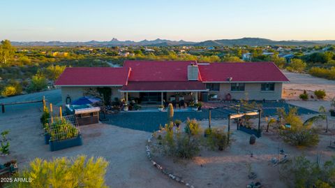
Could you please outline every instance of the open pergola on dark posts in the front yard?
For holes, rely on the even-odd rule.
[[[253,108],[251,106],[245,106],[241,104],[231,105],[231,106],[223,106],[216,108],[209,108],[209,122],[208,126],[211,128],[211,111],[215,110],[219,113],[224,113],[228,117],[228,142],[230,136],[230,120],[237,119],[237,130],[239,130],[239,118],[244,115],[258,115],[258,131],[260,132],[260,118],[262,115],[262,110],[258,108]]]

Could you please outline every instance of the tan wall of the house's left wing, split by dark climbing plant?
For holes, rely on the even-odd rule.
[[[66,104],[66,97],[70,96],[72,101],[84,96],[84,91],[92,87],[61,87],[61,100],[63,104]],[[121,94],[118,91],[121,87],[111,87],[112,96],[111,100],[114,101],[114,98],[117,97],[121,99]]]

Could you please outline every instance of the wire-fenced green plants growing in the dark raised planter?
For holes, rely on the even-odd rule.
[[[46,131],[50,134],[50,140],[52,141],[75,138],[80,135],[79,124],[75,115],[50,118]]]

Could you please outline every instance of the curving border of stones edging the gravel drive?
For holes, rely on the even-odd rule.
[[[188,182],[185,182],[183,180],[183,178],[177,176],[177,175],[174,175],[172,172],[169,173],[169,171],[164,168],[163,166],[161,166],[160,164],[156,163],[156,161],[154,161],[152,158],[151,158],[151,150],[150,150],[150,143],[151,143],[151,139],[154,137],[153,134],[151,134],[151,136],[148,138],[147,140],[147,145],[145,146],[146,149],[147,149],[147,157],[149,159],[149,161],[151,162],[151,164],[153,166],[155,166],[158,171],[161,171],[161,173],[163,173],[164,175],[167,175],[170,179],[176,181],[176,182],[179,182],[181,185],[185,185],[186,187],[191,187],[191,188],[194,188],[193,185],[191,185],[190,183]]]

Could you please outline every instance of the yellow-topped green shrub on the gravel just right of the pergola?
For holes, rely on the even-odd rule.
[[[289,112],[283,114],[286,124],[290,124],[290,129],[279,131],[284,142],[296,146],[318,145],[318,130],[311,127],[311,124],[304,125],[301,118],[297,115],[297,108],[290,108]]]

